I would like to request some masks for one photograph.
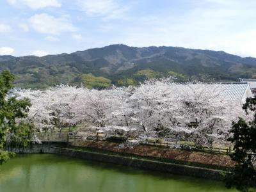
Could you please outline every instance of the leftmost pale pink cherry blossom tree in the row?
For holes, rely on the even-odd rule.
[[[81,88],[60,85],[44,91],[15,90],[13,93],[19,95],[20,99],[31,100],[32,106],[27,120],[33,122],[39,131],[56,128],[61,132],[65,125],[77,123],[72,107],[81,90]]]

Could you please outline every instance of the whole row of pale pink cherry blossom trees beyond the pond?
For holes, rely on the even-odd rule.
[[[47,90],[16,90],[31,100],[28,122],[40,131],[84,122],[103,132],[137,131],[148,137],[193,141],[197,145],[225,143],[232,121],[246,116],[241,101],[225,94],[218,83],[177,84],[153,79],[139,86],[89,90],[67,85]]]

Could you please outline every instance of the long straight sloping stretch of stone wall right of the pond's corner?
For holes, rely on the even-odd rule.
[[[74,150],[70,148],[52,147],[52,149],[54,149],[54,154],[76,157],[79,159],[89,159],[92,161],[101,161],[105,163],[122,164],[124,166],[132,166],[136,168],[143,168],[159,172],[168,172],[172,174],[185,175],[190,177],[223,180],[224,172],[220,170],[212,170],[207,168],[199,168],[195,166],[186,166],[181,164],[164,163],[159,161],[151,161],[148,159],[138,159],[134,157],[101,154],[99,152],[88,152]]]

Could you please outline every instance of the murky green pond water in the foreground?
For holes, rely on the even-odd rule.
[[[1,192],[232,191],[221,182],[147,172],[51,154],[20,155],[0,166]]]

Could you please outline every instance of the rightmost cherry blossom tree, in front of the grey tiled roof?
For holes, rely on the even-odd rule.
[[[223,95],[221,84],[177,84],[176,87],[175,93],[182,104],[180,125],[198,145],[225,142],[232,121],[239,115],[245,116],[241,102]]]

